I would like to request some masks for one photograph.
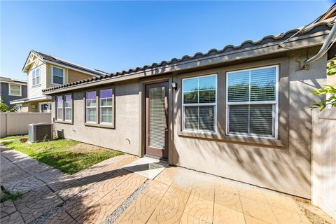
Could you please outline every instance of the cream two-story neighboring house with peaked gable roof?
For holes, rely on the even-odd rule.
[[[106,75],[103,71],[89,69],[35,50],[29,52],[22,71],[28,75],[28,95],[10,102],[21,104],[22,112],[51,111],[51,97],[42,94],[44,89]]]

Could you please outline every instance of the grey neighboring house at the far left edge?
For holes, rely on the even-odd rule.
[[[9,102],[22,97],[27,97],[27,80],[0,76],[0,100],[12,108],[14,105],[10,105]],[[20,105],[18,106],[20,109]]]

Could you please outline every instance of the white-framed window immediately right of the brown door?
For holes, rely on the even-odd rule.
[[[217,76],[183,78],[183,130],[216,132]]]

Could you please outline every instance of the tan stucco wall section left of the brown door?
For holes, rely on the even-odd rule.
[[[106,87],[108,88],[108,87]],[[116,129],[87,127],[85,123],[85,91],[73,92],[73,125],[55,123],[55,130],[64,137],[88,144],[139,155],[139,83],[116,85]],[[52,118],[55,118],[55,97]]]

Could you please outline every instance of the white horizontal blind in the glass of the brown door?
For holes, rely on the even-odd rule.
[[[165,148],[166,109],[165,87],[149,89],[149,146]]]

